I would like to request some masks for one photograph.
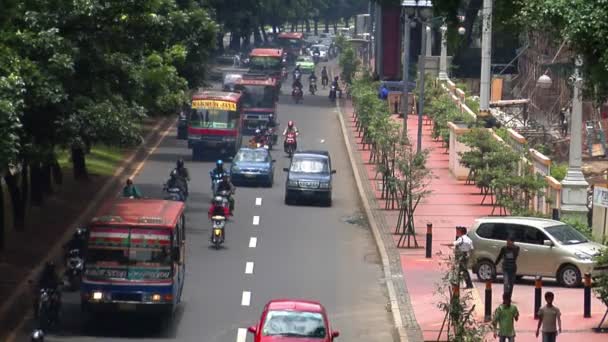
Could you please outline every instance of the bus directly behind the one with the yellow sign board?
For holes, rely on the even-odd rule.
[[[279,85],[277,79],[264,75],[245,74],[237,80],[234,90],[242,94],[243,128],[255,130],[262,124],[268,123],[270,114],[277,119],[277,101]]]

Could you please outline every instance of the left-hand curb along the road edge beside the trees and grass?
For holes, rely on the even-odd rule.
[[[122,185],[120,178],[124,177],[129,172],[131,164],[134,162],[137,156],[142,155],[140,165],[131,173],[130,177],[134,177],[141,170],[142,165],[148,159],[150,154],[160,145],[164,137],[167,136],[171,127],[175,125],[177,118],[167,117],[159,121],[151,132],[142,139],[140,146],[132,151],[128,158],[122,161],[121,165],[114,171],[114,174],[97,192],[95,197],[91,200],[90,204],[86,209],[69,225],[76,227],[86,219],[93,215],[94,211],[99,206],[99,203],[110,194],[110,191]],[[152,147],[148,147],[148,144],[152,144]],[[11,341],[14,340],[15,330],[23,324],[25,321],[24,315],[31,309],[31,286],[28,280],[35,279],[40,273],[46,262],[56,259],[60,256],[63,245],[70,239],[73,234],[72,229],[66,230],[61,239],[49,249],[46,257],[34,268],[31,272],[17,284],[15,292],[7,299],[6,302],[0,306],[0,340]],[[60,265],[59,265],[60,266]],[[61,266],[60,266],[61,267]],[[2,336],[7,335],[7,336]]]

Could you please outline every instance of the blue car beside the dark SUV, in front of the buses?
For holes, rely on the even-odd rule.
[[[262,184],[272,187],[274,183],[274,160],[265,148],[239,149],[230,166],[232,182],[236,184]]]

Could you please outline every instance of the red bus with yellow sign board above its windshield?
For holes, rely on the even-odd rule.
[[[242,141],[242,94],[202,91],[192,96],[188,120],[188,148],[192,160],[201,160],[205,149],[234,155]]]

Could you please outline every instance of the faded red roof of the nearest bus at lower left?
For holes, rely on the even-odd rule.
[[[178,201],[118,198],[105,203],[91,225],[173,228],[184,209],[184,203]]]

